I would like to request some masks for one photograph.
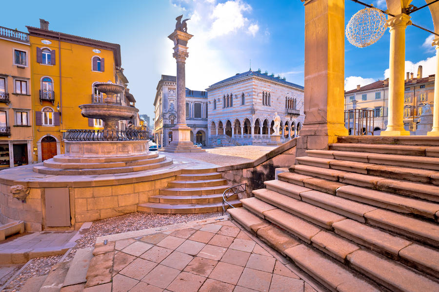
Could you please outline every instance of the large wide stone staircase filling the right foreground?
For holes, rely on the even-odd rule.
[[[228,212],[330,291],[439,291],[435,143],[307,150]]]

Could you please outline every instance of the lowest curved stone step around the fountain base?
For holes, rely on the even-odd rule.
[[[97,174],[116,174],[125,172],[135,172],[142,170],[149,170],[159,167],[164,167],[172,164],[172,159],[165,160],[146,165],[114,167],[114,168],[84,168],[84,169],[60,169],[51,168],[43,165],[34,166],[34,171],[42,174],[57,174],[57,175],[97,175]]]

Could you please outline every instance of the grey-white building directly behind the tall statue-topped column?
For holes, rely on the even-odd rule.
[[[154,100],[154,139],[162,147],[172,141],[177,123],[176,87],[176,76],[161,75]],[[186,88],[186,124],[191,128],[191,141],[206,145],[207,91]]]

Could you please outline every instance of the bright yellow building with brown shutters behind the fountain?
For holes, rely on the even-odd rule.
[[[43,19],[40,28],[27,26],[36,162],[64,153],[65,130],[103,128],[102,121],[82,117],[78,106],[102,102],[95,83],[120,83],[115,77],[121,71],[119,44],[51,31],[48,26]],[[126,103],[124,93],[118,99]]]

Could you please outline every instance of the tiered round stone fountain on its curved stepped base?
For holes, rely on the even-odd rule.
[[[172,164],[172,160],[149,152],[148,133],[140,130],[118,130],[120,120],[133,118],[138,109],[122,106],[115,94],[124,87],[112,82],[96,84],[105,93],[103,103],[80,105],[83,117],[101,119],[101,129],[71,129],[64,135],[65,154],[34,166],[34,171],[58,175],[115,174],[148,170]]]

